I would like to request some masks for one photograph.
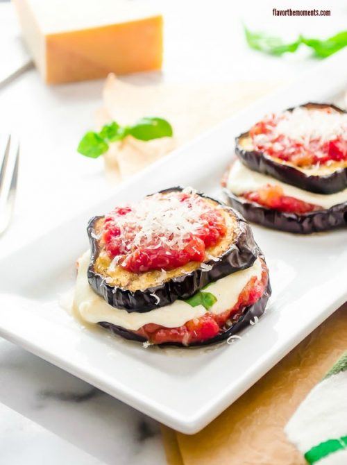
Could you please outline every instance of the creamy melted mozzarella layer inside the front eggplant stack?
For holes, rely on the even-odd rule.
[[[147,323],[155,323],[166,328],[177,328],[187,321],[199,318],[207,312],[202,305],[192,307],[184,301],[175,301],[171,305],[158,307],[150,312],[128,313],[126,310],[112,307],[102,297],[95,294],[87,280],[87,268],[90,262],[90,251],[87,251],[79,260],[78,274],[74,293],[74,314],[87,323],[99,323],[107,321],[127,330],[136,331]],[[247,282],[256,276],[260,280],[262,276],[262,264],[260,259],[255,260],[252,267],[232,273],[226,278],[212,283],[208,292],[216,296],[210,312],[219,314],[234,307],[239,294]]]

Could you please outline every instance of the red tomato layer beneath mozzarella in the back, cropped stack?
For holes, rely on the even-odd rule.
[[[283,195],[283,189],[276,185],[266,185],[257,191],[246,192],[244,198],[251,202],[259,203],[264,207],[287,213],[307,213],[315,210],[323,210],[323,207],[307,203],[298,198]]]

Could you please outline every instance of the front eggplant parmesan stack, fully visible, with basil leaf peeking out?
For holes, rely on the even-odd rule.
[[[248,223],[193,189],[119,206],[87,233],[74,312],[126,339],[210,344],[257,321],[271,294]]]

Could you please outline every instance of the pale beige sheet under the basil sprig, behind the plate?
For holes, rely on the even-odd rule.
[[[119,181],[132,176],[276,86],[278,83],[232,81],[134,85],[110,74],[103,90],[103,108],[96,115],[97,126],[112,120],[133,124],[139,118],[157,116],[171,123],[174,138],[142,142],[126,137],[124,142],[111,144],[104,155],[108,178]]]

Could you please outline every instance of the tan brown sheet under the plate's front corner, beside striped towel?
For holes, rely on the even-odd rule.
[[[204,430],[188,436],[163,426],[167,463],[304,465],[283,428],[346,347],[347,303]]]

